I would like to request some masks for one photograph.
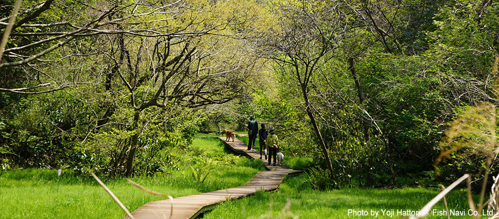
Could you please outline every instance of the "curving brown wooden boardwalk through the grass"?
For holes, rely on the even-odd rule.
[[[225,140],[225,137],[220,137],[220,139]],[[246,150],[247,146],[239,139],[235,139],[234,142],[225,143],[236,153],[241,153],[254,159],[260,159],[260,152]],[[264,161],[264,164],[267,164],[267,161]],[[244,186],[174,198],[174,207],[171,219],[195,218],[201,212],[212,209],[217,203],[252,195],[255,192],[261,190],[276,190],[278,189],[279,185],[281,185],[286,175],[301,172],[298,170],[292,170],[286,166],[273,167],[265,165],[265,167],[267,169],[274,170],[258,172]],[[169,218],[170,209],[170,200],[159,200],[146,203],[142,207],[137,208],[135,211],[133,211],[132,215],[137,219],[164,219]],[[125,218],[129,217],[127,216]]]

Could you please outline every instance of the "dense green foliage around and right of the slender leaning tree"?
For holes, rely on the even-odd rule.
[[[275,4],[301,7],[294,1],[275,1]],[[483,14],[478,14],[482,11],[481,2],[439,5],[412,1],[412,4],[426,10],[418,7],[399,10],[384,2],[362,6],[359,2],[351,3],[351,8],[372,10],[370,16],[375,19],[355,20],[366,22],[367,29],[357,28],[358,23],[352,22],[352,34],[346,34],[347,39],[338,42],[339,48],[318,62],[318,70],[311,79],[308,90],[311,104],[340,186],[395,185],[399,183],[397,177],[409,175],[425,178],[422,171],[433,169],[446,122],[451,121],[454,110],[483,100],[496,102],[491,95],[495,85],[490,63],[498,51],[495,33],[499,22],[495,18],[499,4],[487,5]],[[380,38],[370,37],[375,30],[371,25],[376,25],[372,22],[378,27],[393,28],[386,32],[390,36],[385,39],[387,46]],[[356,74],[363,86],[366,98],[363,103],[359,103],[346,61],[350,57],[354,57]],[[274,70],[279,85],[272,91],[277,91],[277,95],[264,95],[260,99],[264,101],[254,102],[272,109],[270,112],[278,112],[264,116],[273,116],[281,123],[290,121],[299,127],[295,132],[286,130],[281,139],[298,144],[289,146],[292,153],[298,153],[292,148],[310,151],[307,157],[321,165],[324,161],[316,150],[318,139],[303,115],[305,106],[297,87],[299,79],[290,74],[292,68],[274,65]],[[294,106],[296,120],[282,117],[289,115],[276,108],[283,104]],[[369,123],[369,140],[364,137],[363,120]],[[477,158],[466,158],[459,168],[446,167],[449,177],[446,179],[470,171],[472,166],[480,169],[483,164]]]

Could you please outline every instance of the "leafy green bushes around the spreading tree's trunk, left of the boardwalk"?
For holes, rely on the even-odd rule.
[[[123,113],[127,112],[123,111]],[[134,174],[153,175],[178,170],[179,156],[171,151],[175,147],[189,149],[193,136],[199,129],[197,121],[200,118],[196,115],[178,115],[163,120],[162,114],[156,117],[149,116],[155,113],[157,110],[144,111],[142,116],[144,119],[140,122],[148,123],[148,126],[142,127],[141,130],[106,128],[106,131],[102,130],[100,133],[91,135],[90,140],[79,147],[81,153],[85,155],[84,162],[78,165],[78,170],[82,172],[97,170],[112,175],[123,173],[126,150],[136,132],[142,134],[137,140],[138,150],[135,154]],[[120,117],[122,114],[116,113],[115,116]],[[197,147],[190,147],[195,155],[199,152],[196,149]]]

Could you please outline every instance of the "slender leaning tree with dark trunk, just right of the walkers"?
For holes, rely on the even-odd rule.
[[[340,45],[345,29],[342,3],[301,1],[278,4],[275,11],[281,16],[281,33],[269,43],[269,56],[276,60],[285,74],[294,74],[301,92],[304,110],[312,123],[331,179],[334,171],[328,147],[316,120],[316,111],[309,98],[311,78],[318,65],[330,58],[330,52]]]

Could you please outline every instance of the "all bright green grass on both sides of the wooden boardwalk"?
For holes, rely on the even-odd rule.
[[[247,142],[247,137],[241,139]],[[263,170],[261,161],[228,154],[224,144],[214,138],[195,138],[189,150],[191,152],[181,158],[185,163],[180,171],[133,177],[132,180],[151,190],[179,197],[244,185]],[[206,181],[197,183],[186,164],[190,161],[189,154],[201,154],[226,165],[215,165],[215,171]],[[257,192],[254,196],[219,204],[206,213],[205,218],[374,218],[349,215],[349,209],[372,209],[379,211],[377,218],[400,218],[382,216],[381,210],[418,210],[438,193],[433,188],[410,187],[318,191],[304,183],[306,177],[306,174],[288,176],[275,192]],[[163,199],[136,189],[124,178],[104,177],[103,180],[130,211],[147,202]],[[464,191],[452,192],[448,200],[451,209],[468,209]],[[285,207],[287,203],[289,207]],[[439,203],[435,208],[443,209],[443,204]],[[0,178],[0,218],[122,218],[124,215],[91,176],[64,171],[58,177],[57,170],[24,169],[5,171]]]

